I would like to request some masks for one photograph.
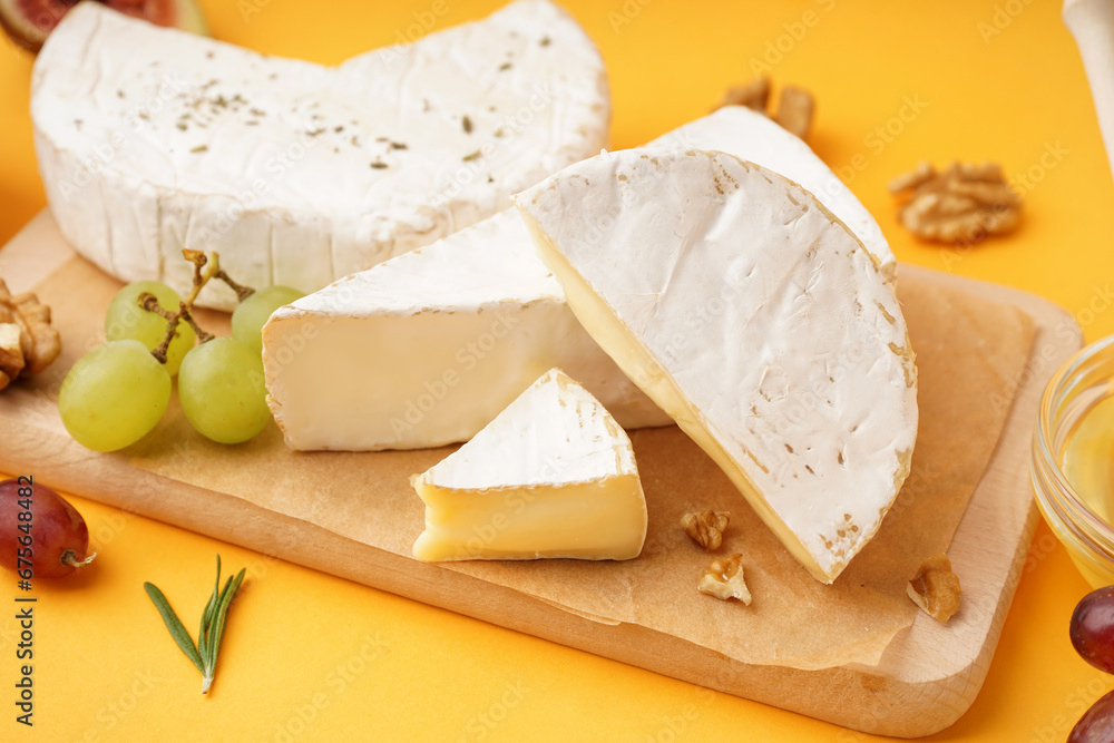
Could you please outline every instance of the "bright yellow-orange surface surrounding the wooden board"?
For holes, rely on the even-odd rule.
[[[433,16],[432,0],[202,2],[217,38],[320,62],[394,42],[422,18],[439,29],[499,4],[444,0],[447,12]],[[768,65],[775,85],[815,94],[811,144],[901,261],[1044,295],[1076,314],[1088,340],[1114,333],[1114,188],[1059,3],[565,4],[607,62],[615,147],[702,116],[725,87]],[[0,244],[45,204],[31,66],[0,41]],[[955,158],[1004,165],[1025,193],[1014,235],[956,251],[897,224],[887,182],[921,159]],[[17,629],[14,612],[0,609],[0,740],[873,740],[72,500],[99,556],[79,577],[37,581],[30,731],[13,721]],[[158,584],[196,632],[217,551],[250,577],[203,697],[141,585]],[[1042,524],[980,695],[930,740],[1064,740],[1114,686],[1068,642],[1086,590]],[[0,590],[0,600],[14,594]]]

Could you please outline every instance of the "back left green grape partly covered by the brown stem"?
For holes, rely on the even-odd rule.
[[[130,338],[154,351],[166,336],[166,317],[148,312],[139,306],[138,299],[144,292],[154,294],[159,306],[170,312],[178,310],[182,297],[173,289],[157,281],[137,281],[128,284],[113,297],[105,313],[105,336],[109,341]],[[174,331],[174,340],[166,350],[166,371],[174,377],[178,373],[182,359],[194,348],[197,334],[188,323],[179,322]]]

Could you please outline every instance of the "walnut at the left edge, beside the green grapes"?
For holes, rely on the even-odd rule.
[[[2,278],[0,329],[0,390],[20,374],[42,371],[62,351],[61,338],[50,326],[50,307],[35,294],[12,296]]]

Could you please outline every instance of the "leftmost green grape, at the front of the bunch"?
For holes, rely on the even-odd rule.
[[[58,412],[78,443],[116,451],[145,437],[170,400],[170,375],[139,341],[110,341],[74,364]]]

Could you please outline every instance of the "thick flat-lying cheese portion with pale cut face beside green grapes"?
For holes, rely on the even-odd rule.
[[[551,366],[623,426],[672,423],[580,326],[514,209],[281,307],[263,346],[294,449],[465,441]]]

